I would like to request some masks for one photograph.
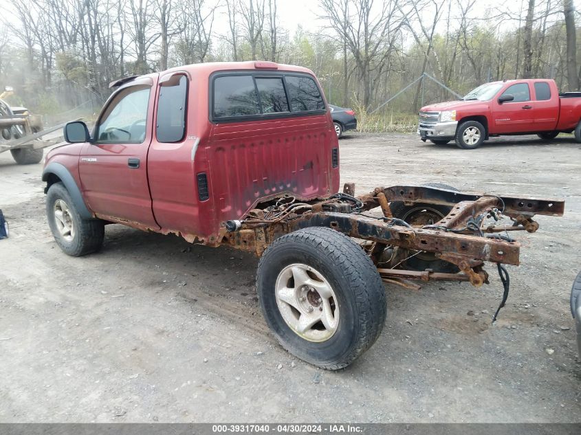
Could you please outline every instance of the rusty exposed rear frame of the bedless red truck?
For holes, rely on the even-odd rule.
[[[354,185],[347,183],[343,196],[300,203],[288,213],[282,212],[283,216],[275,214],[274,219],[267,219],[265,210],[269,210],[268,206],[272,209],[271,201],[264,208],[252,210],[243,221],[225,223],[222,242],[261,255],[282,234],[305,227],[331,227],[362,239],[362,246],[378,265],[384,280],[406,287],[413,287],[406,282],[408,279],[465,280],[480,287],[488,278],[483,270],[484,262],[519,264],[520,245],[508,236],[509,232],[535,232],[538,229],[538,223],[532,220],[535,214],[562,216],[564,211],[564,201],[560,199],[498,197],[424,186],[375,188],[361,197],[349,197],[354,190]],[[412,227],[391,215],[389,204],[393,201],[403,201],[406,205],[447,205],[452,209],[439,222]],[[381,208],[382,215],[366,214],[374,208]],[[509,218],[509,225],[496,223],[503,217]],[[486,221],[494,224],[485,225]],[[382,252],[388,247],[433,253],[457,265],[461,272],[402,270],[397,269],[399,263],[393,266],[393,262],[392,267],[380,267]]]

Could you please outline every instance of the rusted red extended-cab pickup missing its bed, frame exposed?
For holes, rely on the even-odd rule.
[[[563,212],[558,199],[442,185],[354,197],[347,183],[339,192],[333,120],[305,68],[208,63],[111,87],[93,132],[70,122],[68,144],[47,154],[56,243],[72,256],[96,252],[105,225],[120,223],[254,252],[267,324],[287,350],[323,368],[351,364],[380,335],[382,280],[480,287],[484,262],[506,278],[501,263],[518,265],[520,249],[506,228],[534,232],[534,214]],[[512,220],[497,225],[503,216]]]

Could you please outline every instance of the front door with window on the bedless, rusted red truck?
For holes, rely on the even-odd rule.
[[[149,76],[118,89],[97,120],[93,142],[83,147],[78,168],[96,214],[157,229],[147,181],[154,84]]]

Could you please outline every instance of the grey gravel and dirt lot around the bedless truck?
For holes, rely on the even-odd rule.
[[[493,268],[482,289],[388,286],[375,346],[347,370],[323,372],[267,330],[256,258],[120,225],[107,227],[99,254],[69,258],[45,221],[41,165],[5,153],[0,421],[580,422],[569,312],[581,268],[580,145],[517,137],[465,151],[353,134],[340,148],[342,181],[358,194],[442,181],[564,197],[566,214],[519,234],[523,264],[509,267],[512,293],[494,326]]]

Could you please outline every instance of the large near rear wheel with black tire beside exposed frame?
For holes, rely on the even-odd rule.
[[[314,287],[304,293],[300,282],[316,285],[321,293],[324,288],[331,296],[323,301],[325,293],[312,293]],[[276,239],[259,262],[256,289],[265,320],[281,346],[327,370],[349,366],[371,347],[385,323],[386,298],[377,269],[359,245],[331,228],[310,227]],[[327,315],[331,327],[311,321],[305,331],[296,332],[299,319],[318,312],[321,318]]]

